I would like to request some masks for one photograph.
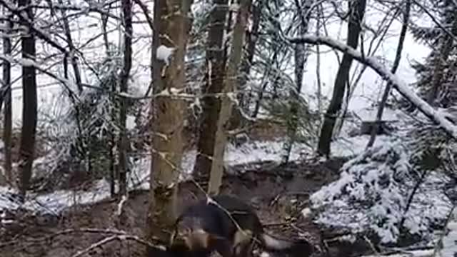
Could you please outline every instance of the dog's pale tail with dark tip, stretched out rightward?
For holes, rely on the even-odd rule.
[[[289,241],[279,239],[267,233],[261,233],[259,239],[267,251],[281,251],[290,253],[292,256],[311,256],[314,247],[308,241],[299,239]]]

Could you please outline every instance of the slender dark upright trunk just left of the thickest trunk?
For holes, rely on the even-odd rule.
[[[129,75],[131,69],[131,36],[133,34],[131,19],[131,0],[122,0],[122,18],[124,23],[124,67],[121,71],[120,88],[121,93],[129,91]],[[119,106],[119,196],[126,196],[127,193],[127,171],[129,170],[127,151],[129,138],[127,138],[127,100],[121,97]]]

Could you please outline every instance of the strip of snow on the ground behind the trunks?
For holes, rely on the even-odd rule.
[[[386,138],[380,136],[377,143],[383,143]],[[360,136],[353,138],[353,141],[336,141],[333,145],[334,156],[347,156],[363,151],[368,136]],[[245,163],[258,161],[280,161],[283,141],[250,141],[241,146],[235,147],[229,145],[226,148],[226,156],[224,158],[226,166],[234,166]],[[312,149],[304,143],[296,143],[291,152],[291,161],[296,161],[300,158],[301,153],[311,153]],[[188,151],[184,153],[181,163],[181,179],[189,178],[189,174],[194,168],[196,151]],[[129,188],[149,188],[149,168],[150,158],[141,158],[134,163],[129,180]],[[0,210],[3,208],[16,209],[19,208],[19,203],[8,197],[13,190],[0,187]],[[56,191],[53,193],[45,193],[36,195],[30,193],[26,199],[23,208],[40,211],[44,213],[59,213],[65,208],[74,204],[96,203],[105,198],[108,198],[109,182],[106,180],[96,181],[91,190],[86,191]]]

